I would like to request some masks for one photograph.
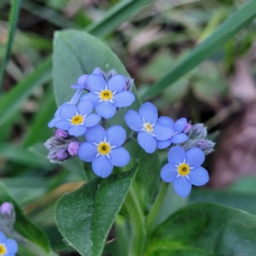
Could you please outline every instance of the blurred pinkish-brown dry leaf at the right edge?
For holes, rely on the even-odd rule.
[[[249,70],[249,61],[236,62],[230,95],[241,109],[227,119],[214,153],[210,185],[215,188],[256,175],[256,87]]]

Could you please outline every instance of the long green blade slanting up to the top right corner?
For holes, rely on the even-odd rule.
[[[250,1],[243,8],[228,17],[202,44],[198,45],[183,61],[150,87],[143,97],[154,97],[164,88],[177,81],[205,59],[219,51],[227,41],[236,35],[256,16],[256,1]]]

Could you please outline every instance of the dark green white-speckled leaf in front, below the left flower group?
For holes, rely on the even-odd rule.
[[[138,166],[106,179],[89,180],[64,195],[56,207],[56,223],[68,243],[83,256],[101,255],[108,232],[120,211]]]

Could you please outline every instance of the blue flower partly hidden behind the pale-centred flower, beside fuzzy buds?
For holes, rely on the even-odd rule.
[[[171,143],[182,143],[188,140],[188,135],[183,132],[184,127],[188,124],[186,118],[180,118],[176,122],[173,122],[172,118],[161,116],[159,118],[159,124],[172,127],[173,132],[168,140],[157,141],[157,148],[163,149],[169,147]]]

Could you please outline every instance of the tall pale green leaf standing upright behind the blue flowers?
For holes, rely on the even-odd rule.
[[[53,60],[54,91],[58,105],[69,101],[74,94],[70,84],[76,84],[77,78],[82,74],[91,74],[95,67],[100,67],[104,71],[115,68],[119,74],[129,76],[116,55],[100,40],[85,32],[67,30],[56,33]],[[129,108],[138,110],[140,102],[135,88],[133,93],[136,97],[136,102]],[[108,121],[109,125],[122,125],[127,131],[127,136],[131,134],[131,130],[124,122],[124,114],[129,108],[118,111]],[[136,180],[134,180],[134,188],[136,189],[136,195],[139,196],[141,205],[143,205],[143,210],[147,211],[159,182],[159,159],[157,153],[145,153],[135,141],[129,142],[125,147],[132,156],[132,161],[129,166],[125,167],[125,170],[134,166],[135,160],[140,157],[140,169],[138,175],[136,175]]]

